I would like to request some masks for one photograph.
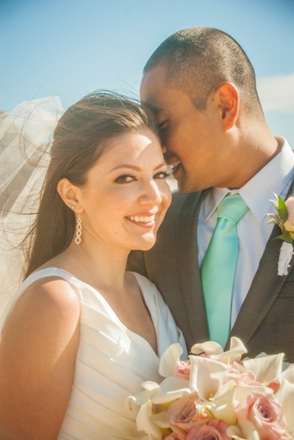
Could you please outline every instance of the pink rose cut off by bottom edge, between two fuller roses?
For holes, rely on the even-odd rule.
[[[226,430],[227,425],[223,420],[206,419],[192,426],[186,440],[231,440]]]

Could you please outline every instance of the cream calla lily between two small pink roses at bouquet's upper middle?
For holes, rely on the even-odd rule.
[[[222,362],[201,356],[190,356],[190,388],[203,400],[214,397],[227,377],[227,366]]]

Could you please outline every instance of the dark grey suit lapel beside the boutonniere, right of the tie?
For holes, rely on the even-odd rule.
[[[289,190],[286,198],[290,195],[293,195],[293,188]],[[275,225],[260,259],[249,292],[242,304],[234,327],[231,329],[230,336],[238,336],[245,345],[258,329],[269,309],[271,309],[271,305],[273,305],[286,281],[286,276],[278,275],[278,259],[282,241],[275,239],[275,237],[280,233],[280,228]],[[294,258],[291,260],[289,272],[293,266]]]

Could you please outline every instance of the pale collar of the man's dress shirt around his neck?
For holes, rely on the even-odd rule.
[[[205,219],[207,220],[218,203],[227,194],[240,194],[247,203],[249,210],[261,223],[267,212],[273,209],[270,199],[274,198],[273,193],[280,195],[284,188],[290,185],[294,177],[294,154],[288,142],[277,137],[282,143],[282,149],[278,155],[265,165],[247,184],[238,190],[229,190],[229,188],[212,188],[208,195],[207,206],[205,209]]]

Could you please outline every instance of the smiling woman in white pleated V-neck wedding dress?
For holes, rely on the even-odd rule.
[[[24,281],[0,321],[1,439],[144,437],[126,397],[161,380],[170,344],[187,357],[155,285],[126,272],[129,252],[155,243],[166,175],[155,120],[135,101],[97,92],[60,118]]]

